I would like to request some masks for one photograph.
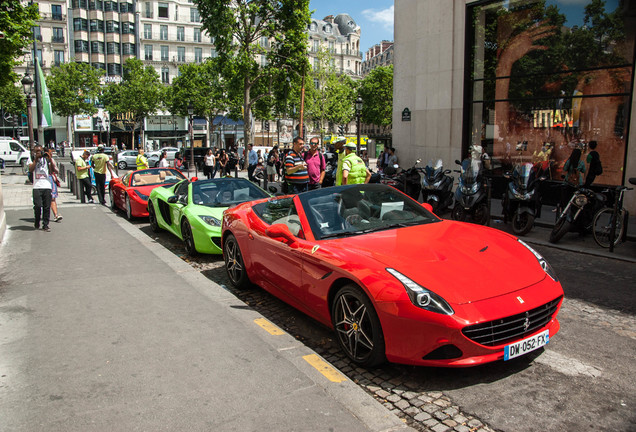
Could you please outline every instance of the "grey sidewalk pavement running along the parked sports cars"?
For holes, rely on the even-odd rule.
[[[30,191],[5,194],[13,188]],[[410,430],[123,217],[64,205],[61,223],[36,231],[12,194],[0,244],[3,430]]]

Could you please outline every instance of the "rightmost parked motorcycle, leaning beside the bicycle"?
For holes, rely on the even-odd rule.
[[[607,201],[605,195],[579,187],[557,216],[550,233],[550,243],[557,243],[567,232],[574,229],[581,234],[591,231],[594,215],[605,206],[605,201]]]

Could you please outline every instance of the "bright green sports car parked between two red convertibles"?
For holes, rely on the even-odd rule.
[[[185,243],[189,255],[222,254],[223,211],[271,195],[240,178],[183,180],[152,190],[148,199],[150,228],[171,232]]]

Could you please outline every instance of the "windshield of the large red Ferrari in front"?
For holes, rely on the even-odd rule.
[[[420,203],[382,184],[317,189],[298,198],[317,240],[440,220]]]

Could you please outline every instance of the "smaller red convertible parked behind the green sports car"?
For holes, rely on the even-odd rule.
[[[149,168],[130,171],[121,178],[114,178],[108,184],[110,208],[122,209],[126,217],[148,216],[148,197],[156,187],[172,186],[186,177],[172,168]]]

